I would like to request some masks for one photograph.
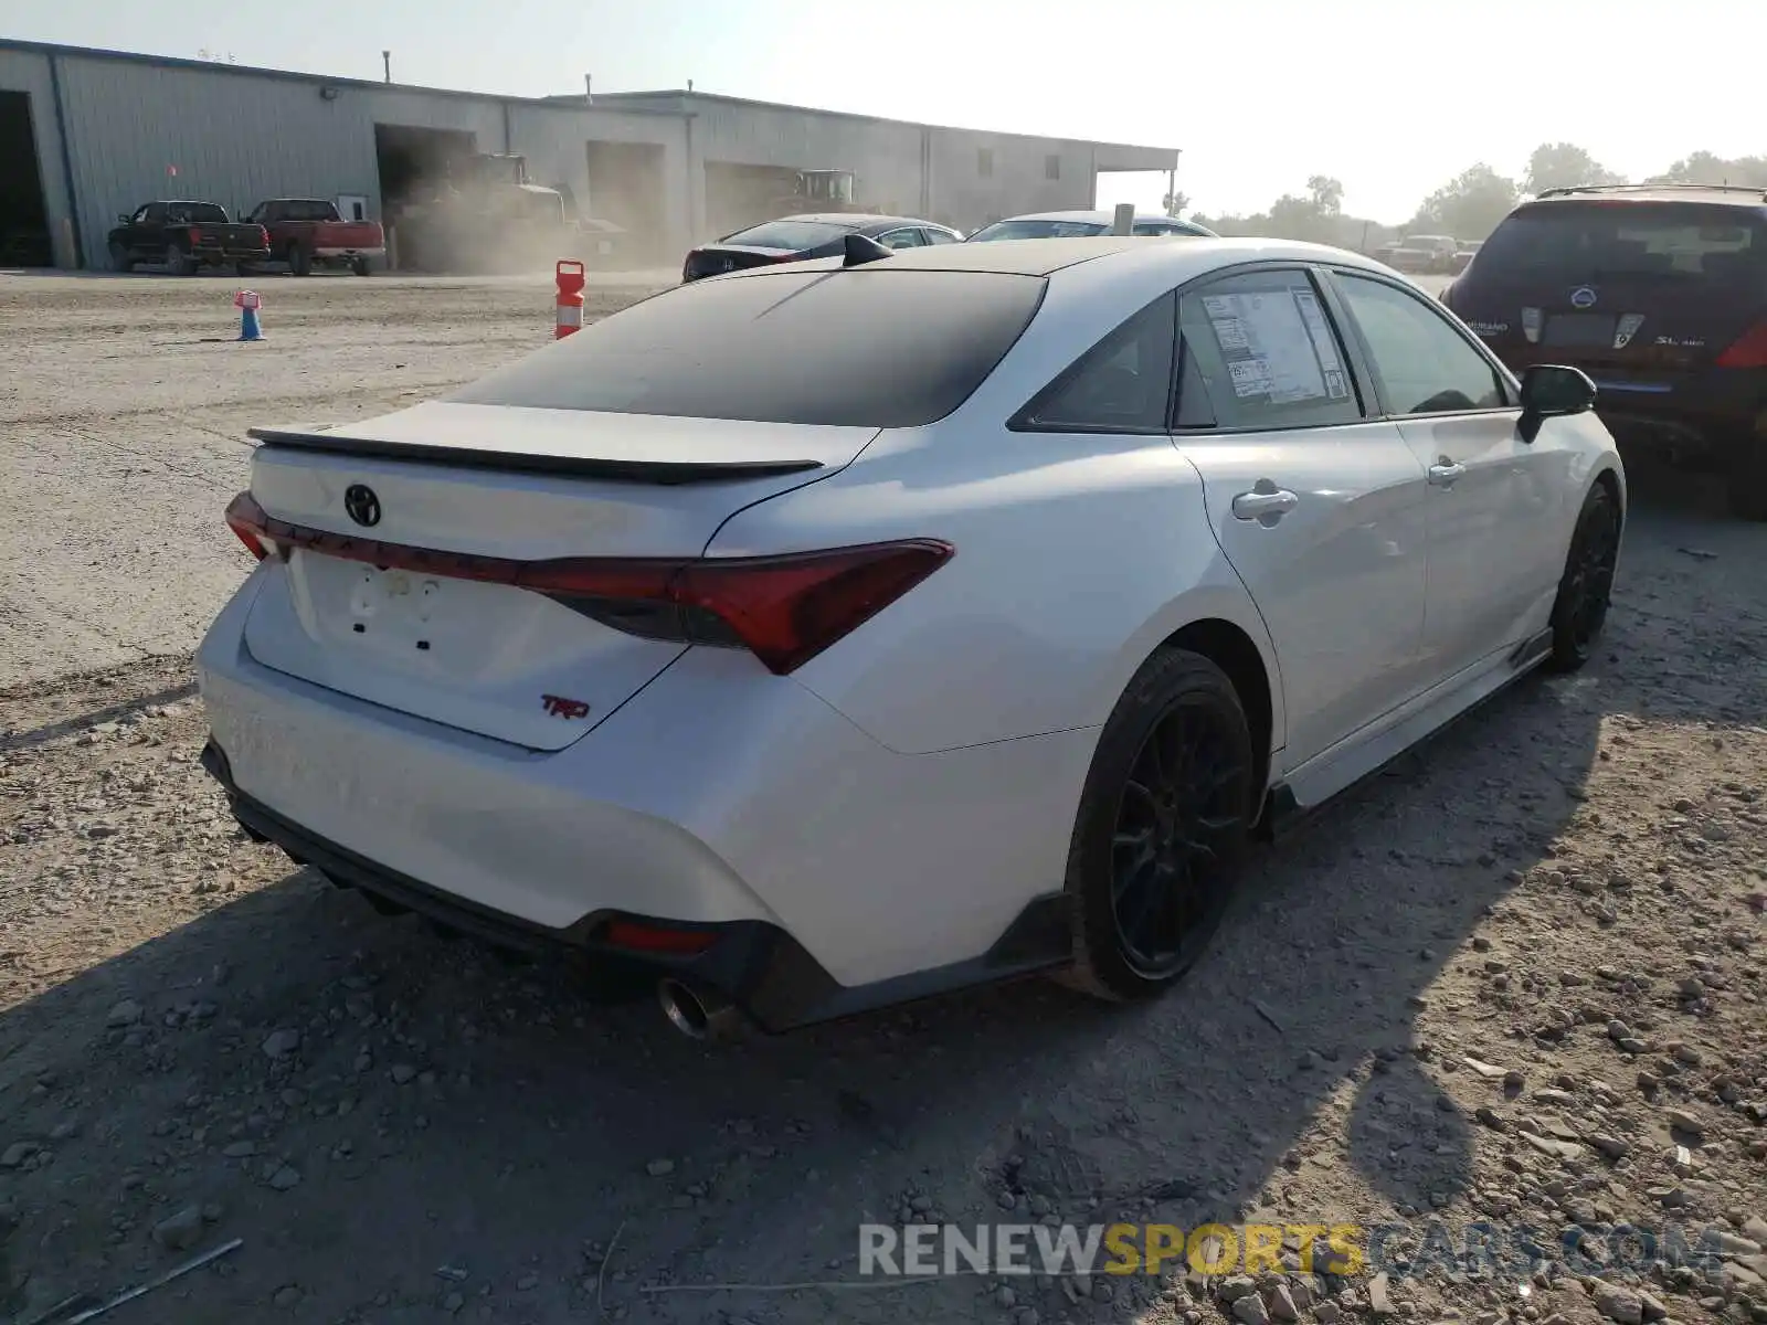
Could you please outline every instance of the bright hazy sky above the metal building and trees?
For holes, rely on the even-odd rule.
[[[1751,18],[1751,11],[1756,11]],[[511,95],[682,87],[1180,147],[1209,214],[1308,175],[1387,223],[1475,161],[1573,141],[1638,178],[1767,152],[1758,0],[0,0],[0,37]],[[1157,203],[1104,177],[1099,201]]]

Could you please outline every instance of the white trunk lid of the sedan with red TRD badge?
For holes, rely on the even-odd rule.
[[[735,511],[832,473],[875,435],[429,403],[254,433],[251,495],[288,525],[403,548],[693,558]],[[594,730],[686,648],[527,588],[309,548],[265,579],[246,647],[315,685],[537,751]]]

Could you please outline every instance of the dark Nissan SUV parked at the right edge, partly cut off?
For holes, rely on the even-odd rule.
[[[1622,447],[1728,473],[1767,519],[1767,194],[1548,189],[1511,212],[1442,302],[1520,373],[1576,364]]]

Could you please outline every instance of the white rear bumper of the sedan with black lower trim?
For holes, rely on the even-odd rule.
[[[617,915],[712,928],[691,963],[643,959],[770,1030],[1071,956],[1060,889],[1096,731],[896,754],[701,648],[534,753],[256,662],[258,583],[198,650],[207,763],[247,827],[357,887],[518,945],[631,956],[594,938]],[[774,966],[793,975],[763,998]]]

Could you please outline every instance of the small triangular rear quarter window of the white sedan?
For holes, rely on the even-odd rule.
[[[1012,420],[1050,433],[1164,433],[1177,295],[1161,295],[1092,346]]]

